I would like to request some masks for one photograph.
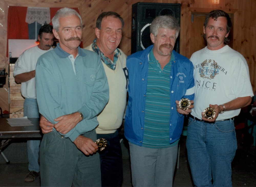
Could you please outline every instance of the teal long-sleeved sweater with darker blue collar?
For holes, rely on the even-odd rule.
[[[95,52],[78,47],[76,74],[69,55],[58,44],[40,56],[36,65],[36,95],[40,114],[53,124],[59,116],[77,111],[83,114],[84,119],[64,135],[73,142],[98,125],[97,115],[109,100],[109,87]]]

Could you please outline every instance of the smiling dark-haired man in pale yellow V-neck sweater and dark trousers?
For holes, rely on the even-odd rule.
[[[118,47],[124,26],[123,18],[115,12],[103,12],[96,21],[96,37],[85,49],[96,52],[102,61],[109,84],[109,102],[98,115],[97,138],[105,138],[107,147],[100,152],[101,185],[122,186],[122,150],[118,128],[123,121],[128,86],[126,55]],[[49,127],[50,126],[50,127]],[[40,121],[43,133],[52,127]]]

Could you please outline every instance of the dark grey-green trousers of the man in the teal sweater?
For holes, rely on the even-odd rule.
[[[96,140],[95,129],[83,136]],[[99,153],[84,155],[69,139],[52,131],[40,145],[41,186],[101,186]]]

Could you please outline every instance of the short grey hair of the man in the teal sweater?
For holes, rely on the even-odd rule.
[[[82,28],[82,18],[77,13],[76,10],[74,10],[72,8],[61,8],[56,12],[55,16],[51,19],[53,29],[55,29],[57,32],[59,32],[59,27],[60,27],[59,19],[61,17],[71,16],[71,15],[76,15],[77,17],[79,17],[79,19],[81,21],[81,28]]]

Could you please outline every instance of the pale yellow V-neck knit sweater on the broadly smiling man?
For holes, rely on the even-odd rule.
[[[92,45],[85,49],[92,50]],[[98,115],[99,126],[96,128],[97,134],[114,133],[122,124],[124,110],[126,106],[126,78],[123,68],[126,67],[126,55],[119,49],[119,55],[115,70],[110,69],[102,62],[109,84],[109,102],[103,111]]]

